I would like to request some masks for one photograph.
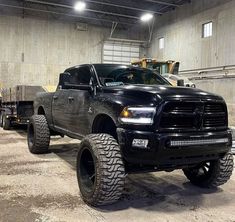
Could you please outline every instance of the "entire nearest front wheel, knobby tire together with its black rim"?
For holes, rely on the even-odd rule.
[[[121,197],[125,169],[120,147],[112,136],[91,134],[82,140],[77,177],[81,196],[89,205],[107,205]]]

